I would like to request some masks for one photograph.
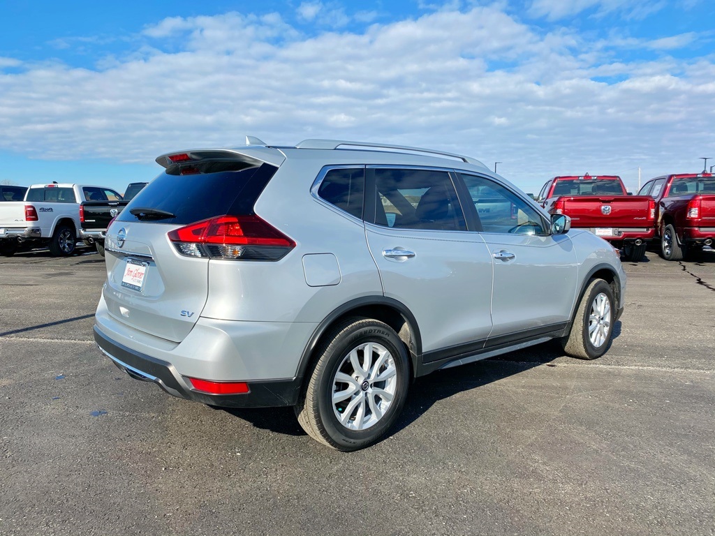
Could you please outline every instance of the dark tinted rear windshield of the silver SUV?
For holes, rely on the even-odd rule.
[[[185,225],[224,214],[252,214],[253,204],[277,167],[263,164],[240,171],[173,174],[167,170],[147,184],[117,217],[136,222],[132,209],[157,209],[174,217],[142,219],[146,223]]]

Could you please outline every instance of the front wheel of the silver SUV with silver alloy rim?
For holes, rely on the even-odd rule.
[[[611,286],[603,279],[592,279],[576,309],[571,333],[562,339],[563,351],[578,359],[601,357],[611,342],[615,318],[616,306]],[[595,331],[593,339],[592,327]]]

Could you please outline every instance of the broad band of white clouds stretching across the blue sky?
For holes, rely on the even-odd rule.
[[[533,191],[557,173],[670,171],[715,144],[711,57],[631,63],[495,6],[315,37],[277,14],[230,13],[164,19],[144,36],[152,47],[101,69],[0,71],[0,132],[12,133],[0,149],[149,163],[244,134],[363,139],[499,160]],[[594,81],[609,76],[622,81]]]

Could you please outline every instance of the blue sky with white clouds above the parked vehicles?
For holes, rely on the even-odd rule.
[[[206,3],[209,4],[209,3]],[[711,0],[0,4],[0,181],[123,191],[189,147],[468,154],[528,192],[715,157]],[[715,164],[715,159],[711,162]]]

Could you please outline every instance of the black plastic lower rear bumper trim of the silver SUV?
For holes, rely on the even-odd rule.
[[[142,354],[112,341],[94,326],[94,341],[104,355],[134,379],[152,382],[174,397],[220,407],[292,406],[300,392],[300,378],[249,381],[246,394],[209,394],[194,389],[169,362]]]

